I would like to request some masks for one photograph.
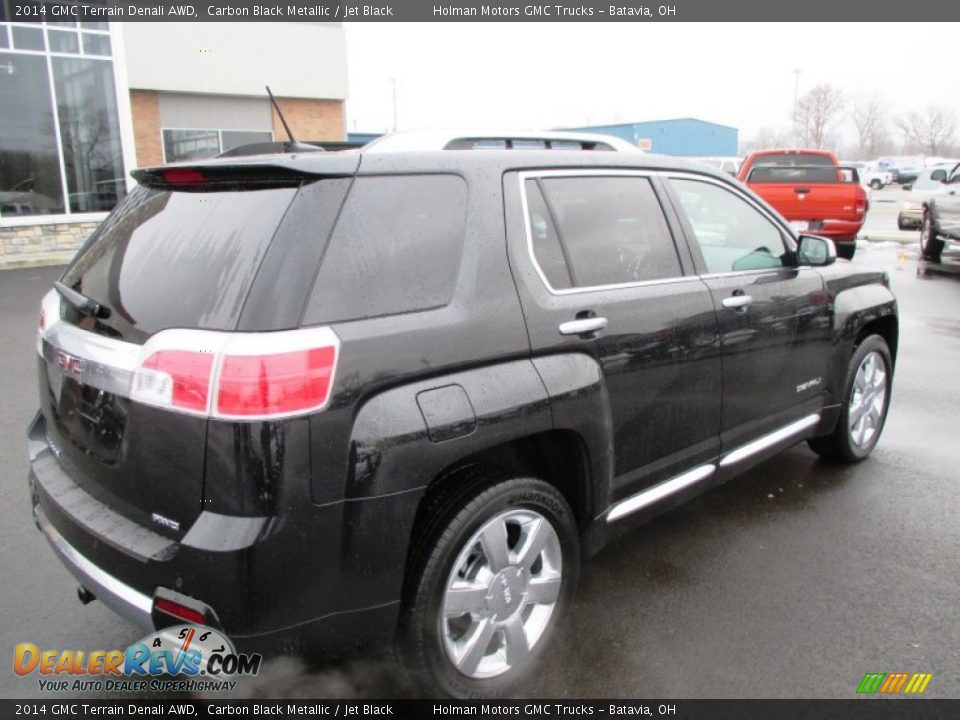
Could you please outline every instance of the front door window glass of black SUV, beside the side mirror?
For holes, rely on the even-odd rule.
[[[671,178],[708,273],[783,267],[780,230],[746,200],[718,185]]]

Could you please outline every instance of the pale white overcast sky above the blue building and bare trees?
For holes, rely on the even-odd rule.
[[[875,93],[891,115],[960,114],[956,24],[345,23],[347,127],[532,128],[697,117],[790,127],[818,83]]]

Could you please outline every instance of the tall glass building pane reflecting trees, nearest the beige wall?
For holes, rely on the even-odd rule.
[[[83,58],[52,61],[70,211],[111,210],[126,192],[113,68]]]

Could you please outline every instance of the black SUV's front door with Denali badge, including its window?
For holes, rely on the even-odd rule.
[[[726,453],[820,410],[831,342],[823,279],[759,204],[712,178],[666,183],[717,307]]]

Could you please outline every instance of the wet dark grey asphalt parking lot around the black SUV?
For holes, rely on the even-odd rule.
[[[877,203],[871,214],[892,208]],[[836,466],[798,446],[607,547],[584,568],[556,645],[518,694],[853,698],[869,671],[931,672],[926,696],[960,697],[960,274],[918,275],[916,243],[894,240],[861,243],[854,261],[885,267],[900,301],[893,401],[873,456]],[[140,637],[99,603],[80,605],[30,516],[33,340],[40,297],[60,271],[0,272],[8,698],[41,696],[36,676],[11,671],[18,642],[92,650]],[[405,691],[383,659],[319,671],[275,660],[242,688],[300,698]]]

